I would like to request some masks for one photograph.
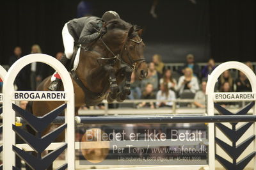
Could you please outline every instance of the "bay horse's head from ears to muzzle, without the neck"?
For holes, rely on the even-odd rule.
[[[141,33],[142,29],[136,31],[134,26],[129,29],[120,57],[140,79],[144,79],[148,75],[148,66],[143,55],[145,44],[140,38]]]

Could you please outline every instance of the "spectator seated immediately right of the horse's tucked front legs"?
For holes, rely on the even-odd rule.
[[[136,79],[134,72],[132,72],[131,75],[131,94],[128,96],[128,98],[131,100],[141,98],[140,81]]]

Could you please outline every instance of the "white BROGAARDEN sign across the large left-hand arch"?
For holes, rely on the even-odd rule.
[[[12,100],[65,101],[68,96],[64,91],[13,91]]]

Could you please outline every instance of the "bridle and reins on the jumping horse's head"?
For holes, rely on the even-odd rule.
[[[131,41],[131,42],[134,42],[134,43],[141,43],[142,38],[140,39],[140,41],[136,41],[136,40],[132,40],[132,39],[128,40],[128,37],[127,37],[126,40],[125,40],[124,46],[122,47],[122,50],[121,50],[120,54],[117,54],[117,55],[108,47],[108,45],[104,42],[104,40],[102,40],[102,36],[100,36],[100,40],[104,44],[106,49],[108,49],[108,51],[114,56],[113,58],[104,58],[104,59],[111,59],[112,61],[115,61],[115,59],[118,59],[119,61],[121,61],[125,65],[130,66],[132,68],[132,70],[135,69],[136,63],[138,61],[140,61],[140,63],[138,63],[138,67],[140,66],[141,63],[146,61],[145,58],[139,58],[139,59],[135,59],[135,60],[132,59],[131,56],[129,55],[129,52],[127,51],[127,42],[128,41]],[[124,54],[125,51],[127,51],[127,53],[128,53],[127,58],[129,59],[129,63],[127,63],[123,58],[123,54]]]

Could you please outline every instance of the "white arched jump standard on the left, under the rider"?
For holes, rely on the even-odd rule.
[[[20,72],[24,66],[29,65],[33,62],[42,62],[47,65],[52,66],[58,73],[63,81],[64,91],[52,92],[52,95],[60,95],[60,97],[65,98],[43,98],[42,94],[45,93],[46,97],[49,91],[14,91],[13,82],[15,77]],[[13,169],[15,166],[15,153],[13,152],[13,146],[15,145],[15,132],[12,130],[13,124],[15,124],[15,112],[12,109],[12,104],[15,100],[24,100],[24,98],[15,98],[15,93],[21,94],[25,97],[26,94],[28,98],[26,100],[62,100],[67,104],[67,109],[65,109],[65,123],[67,123],[67,128],[65,128],[65,143],[67,143],[66,151],[66,162],[68,169],[75,169],[75,140],[74,140],[74,88],[72,80],[69,73],[67,72],[65,66],[63,66],[60,61],[46,54],[30,54],[24,56],[16,61],[6,74],[6,79],[4,79],[3,86],[3,169]],[[34,95],[38,94],[41,98],[34,98]],[[40,95],[39,95],[40,94]]]

